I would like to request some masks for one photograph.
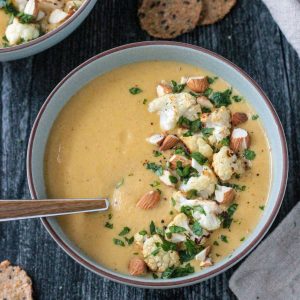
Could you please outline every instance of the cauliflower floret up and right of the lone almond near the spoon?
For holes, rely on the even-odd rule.
[[[182,183],[179,189],[183,192],[196,190],[203,198],[208,198],[215,192],[217,178],[214,172],[207,166],[203,166],[203,170],[199,177],[191,177],[187,183]]]

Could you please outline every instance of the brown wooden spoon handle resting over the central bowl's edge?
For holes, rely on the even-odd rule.
[[[107,199],[0,200],[0,221],[105,211]]]

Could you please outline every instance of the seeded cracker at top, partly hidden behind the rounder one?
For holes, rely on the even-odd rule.
[[[203,0],[199,25],[210,25],[222,20],[236,4],[236,0]]]

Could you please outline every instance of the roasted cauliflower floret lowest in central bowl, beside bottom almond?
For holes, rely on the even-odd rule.
[[[145,263],[153,272],[164,272],[169,267],[180,265],[177,251],[164,251],[160,246],[162,243],[159,235],[155,234],[147,238],[143,245]]]

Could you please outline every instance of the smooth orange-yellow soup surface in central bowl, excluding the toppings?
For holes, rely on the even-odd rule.
[[[91,81],[59,114],[45,154],[47,193],[50,198],[109,197],[107,213],[58,218],[68,237],[98,263],[128,273],[132,257],[143,258],[140,246],[133,241],[134,234],[143,230],[149,234],[151,221],[164,228],[179,213],[174,208],[174,199],[171,200],[174,187],[165,185],[157,174],[145,167],[147,162],[164,165],[169,152],[173,151],[159,151],[156,145],[146,141],[147,137],[162,132],[159,115],[150,113],[148,106],[157,97],[156,87],[162,79],[179,82],[182,76],[206,75],[214,78],[205,70],[179,62],[126,65]],[[213,92],[229,88],[223,79],[210,82],[213,80],[209,87]],[[142,91],[133,89],[132,94],[131,87]],[[220,225],[206,239],[204,247],[212,246],[208,265],[229,256],[247,239],[261,217],[270,187],[270,149],[255,108],[237,91],[230,97],[231,114],[243,112],[248,116],[248,121],[237,127],[249,133],[250,154],[256,156],[250,157],[250,169],[229,180],[237,184],[235,199],[220,207],[224,211],[231,207],[232,218],[225,216],[231,224],[230,228]],[[160,152],[162,155],[157,156]],[[137,206],[145,193],[156,189],[161,196],[154,208]],[[200,269],[197,260],[189,263],[195,270]]]

